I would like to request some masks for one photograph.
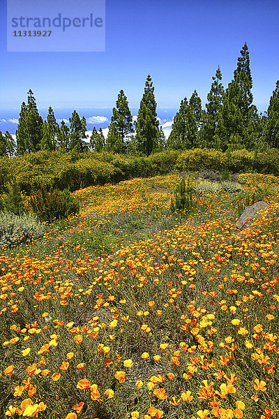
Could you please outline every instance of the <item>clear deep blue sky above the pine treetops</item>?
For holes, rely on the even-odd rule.
[[[0,3],[0,109],[20,109],[30,88],[38,107],[111,108],[120,89],[137,107],[148,73],[158,107],[194,89],[204,107],[216,68],[226,87],[245,41],[259,110],[279,78],[277,0],[107,0],[105,52],[6,52]]]

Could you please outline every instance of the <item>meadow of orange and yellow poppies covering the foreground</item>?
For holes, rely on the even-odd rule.
[[[179,182],[80,189],[1,250],[1,418],[279,418],[279,178],[172,214]],[[252,196],[269,207],[239,231]]]

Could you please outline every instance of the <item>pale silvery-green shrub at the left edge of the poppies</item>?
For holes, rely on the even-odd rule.
[[[28,243],[42,236],[43,226],[38,223],[34,214],[15,215],[0,212],[0,244],[13,247],[20,243]]]

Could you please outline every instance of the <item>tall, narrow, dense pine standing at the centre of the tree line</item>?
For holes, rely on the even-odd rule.
[[[147,155],[151,154],[158,144],[159,122],[157,120],[156,108],[153,82],[150,75],[148,75],[137,121],[135,122],[135,142],[139,151]]]

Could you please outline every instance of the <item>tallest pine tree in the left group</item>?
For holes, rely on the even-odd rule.
[[[40,117],[36,99],[31,89],[28,91],[27,105],[23,102],[17,126],[17,150],[19,154],[24,152],[36,152],[40,149],[42,140],[43,118]]]

